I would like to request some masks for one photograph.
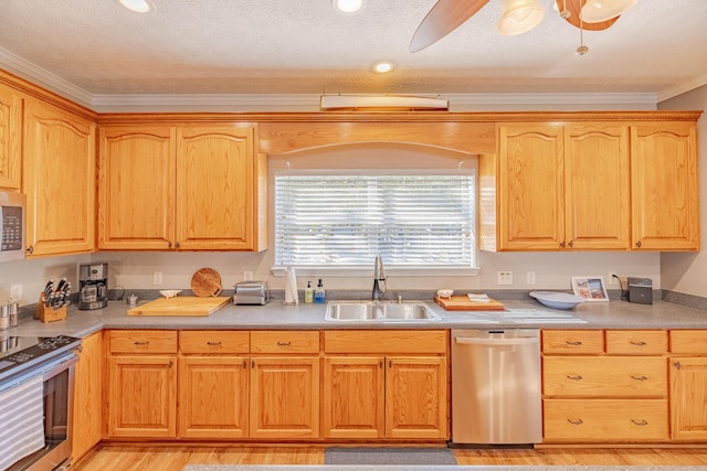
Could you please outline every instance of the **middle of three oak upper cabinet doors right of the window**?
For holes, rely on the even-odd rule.
[[[564,237],[566,248],[630,248],[626,126],[566,128]]]

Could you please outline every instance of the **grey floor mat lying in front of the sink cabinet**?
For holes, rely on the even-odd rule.
[[[456,464],[449,448],[327,448],[326,464]]]

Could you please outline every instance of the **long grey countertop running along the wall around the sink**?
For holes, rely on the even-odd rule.
[[[474,312],[445,311],[433,301],[425,302],[441,320],[331,322],[325,320],[326,304],[287,306],[278,300],[266,306],[229,303],[209,317],[134,317],[127,315],[129,307],[125,301],[109,301],[106,308],[93,311],[70,306],[66,319],[56,322],[22,319],[18,328],[6,332],[83,338],[102,329],[707,329],[707,310],[666,301],[653,304],[618,300],[584,302],[571,310],[555,310],[534,300],[509,300],[504,301],[505,311]]]

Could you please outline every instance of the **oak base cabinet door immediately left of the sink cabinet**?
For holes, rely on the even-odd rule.
[[[319,358],[251,360],[251,438],[319,437]]]

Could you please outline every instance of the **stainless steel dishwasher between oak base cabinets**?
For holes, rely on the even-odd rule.
[[[452,442],[542,440],[537,329],[452,330]]]

